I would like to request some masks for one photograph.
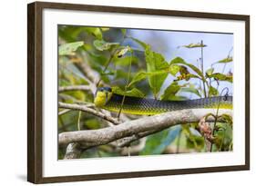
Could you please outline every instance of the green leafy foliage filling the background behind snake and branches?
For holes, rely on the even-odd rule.
[[[154,51],[152,45],[128,34],[128,29],[59,26],[59,86],[88,84],[90,78],[80,66],[83,63],[88,65],[92,74],[98,75],[100,83],[111,86],[114,93],[151,96],[163,101],[220,95],[220,83],[232,83],[232,73],[218,72],[213,65],[202,71],[195,62],[186,61],[181,56],[168,61],[164,54]],[[197,43],[180,47],[192,50],[200,58],[201,49],[207,45]],[[224,66],[232,62],[232,57],[229,54],[216,61],[212,64]],[[206,94],[202,84],[205,85]],[[65,103],[93,103],[94,97],[93,93],[87,91],[67,91],[59,93],[58,99]],[[77,111],[60,115],[58,132],[77,131],[77,117]],[[225,122],[217,122],[213,129],[213,152],[232,150],[232,119],[226,115],[223,120]],[[81,114],[81,130],[95,130],[106,127],[106,124],[90,114]],[[211,128],[213,125],[210,123]],[[132,155],[207,152],[206,140],[198,127],[198,123],[188,123],[151,134],[143,148]],[[131,147],[134,145],[138,145],[138,142],[132,143]],[[65,149],[60,148],[59,158],[62,159],[64,154]],[[120,155],[124,154],[106,144],[84,151],[82,158]]]

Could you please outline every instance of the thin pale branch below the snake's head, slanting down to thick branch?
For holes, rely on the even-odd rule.
[[[96,110],[88,108],[85,105],[61,103],[61,102],[59,102],[58,106],[61,107],[61,108],[73,109],[73,110],[83,111],[83,112],[86,112],[86,113],[91,113],[91,114],[93,114],[93,115],[95,115],[95,116],[97,116],[99,118],[102,118],[102,119],[108,121],[108,122],[112,122],[113,124],[119,124],[120,123],[115,118],[113,118],[113,117],[111,117],[109,115],[106,115],[104,113],[97,112]]]

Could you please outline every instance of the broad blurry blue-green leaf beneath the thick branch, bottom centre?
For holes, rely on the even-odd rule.
[[[148,136],[144,149],[139,155],[161,154],[171,142],[177,138],[180,132],[180,125],[172,127],[169,130],[158,132]]]

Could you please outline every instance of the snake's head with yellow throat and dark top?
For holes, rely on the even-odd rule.
[[[97,107],[104,107],[112,96],[112,89],[110,87],[99,87],[95,93],[94,103]]]

